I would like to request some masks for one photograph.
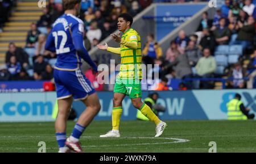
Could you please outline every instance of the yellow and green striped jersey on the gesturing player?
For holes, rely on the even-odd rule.
[[[127,48],[121,44],[121,66],[119,77],[121,79],[142,79],[142,53],[141,36],[133,28],[130,28],[122,35],[122,40],[135,41],[138,43],[137,49]]]

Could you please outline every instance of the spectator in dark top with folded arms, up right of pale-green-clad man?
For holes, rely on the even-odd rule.
[[[231,32],[228,27],[225,27],[226,20],[221,18],[218,27],[213,31],[213,35],[218,45],[228,44],[231,36]]]

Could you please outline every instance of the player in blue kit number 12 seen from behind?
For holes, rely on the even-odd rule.
[[[54,79],[59,112],[55,121],[59,152],[82,152],[81,134],[100,111],[100,101],[90,81],[81,72],[81,58],[97,72],[97,66],[84,48],[84,22],[77,18],[81,0],[63,0],[65,13],[53,23],[46,42],[46,50],[56,52]],[[66,139],[66,127],[73,99],[81,100],[86,110],[81,113],[73,132]]]

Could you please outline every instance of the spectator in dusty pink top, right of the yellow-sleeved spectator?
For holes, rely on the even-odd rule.
[[[181,49],[174,40],[172,40],[170,43],[170,47],[166,51],[166,61],[174,62],[176,58],[183,53],[184,50]]]

